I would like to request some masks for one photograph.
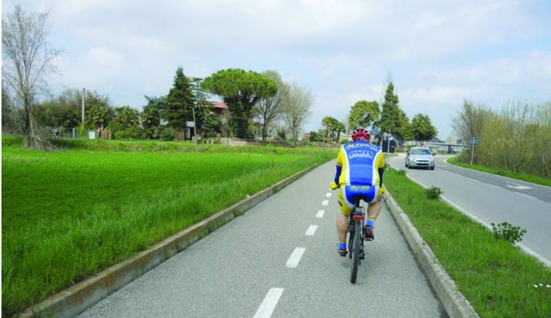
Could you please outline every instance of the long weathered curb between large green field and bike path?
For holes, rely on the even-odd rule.
[[[138,253],[135,257],[115,264],[105,269],[105,271],[85,279],[83,282],[62,290],[60,293],[48,297],[15,317],[74,317],[79,315],[116,290],[165,262],[165,260],[176,253],[183,251],[202,237],[216,231],[216,229],[233,220],[233,218],[242,215],[242,213],[245,213],[245,211],[251,209],[256,204],[277,193],[280,189],[287,187],[291,182],[304,176],[304,174],[318,167],[320,164],[311,165],[293,174],[293,176],[281,180],[271,187],[261,190],[249,198],[241,200],[211,215],[209,218],[189,226],[187,229]]]

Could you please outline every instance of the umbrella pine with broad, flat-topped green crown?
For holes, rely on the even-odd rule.
[[[271,79],[257,72],[240,69],[220,70],[205,78],[202,87],[224,98],[231,114],[231,130],[238,138],[249,137],[251,112],[258,100],[278,92],[278,87]]]

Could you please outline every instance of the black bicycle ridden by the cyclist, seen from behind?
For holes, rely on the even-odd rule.
[[[350,282],[355,284],[357,268],[362,264],[365,258],[364,253],[364,207],[360,206],[360,200],[355,200],[355,207],[349,220],[349,258],[350,264]]]

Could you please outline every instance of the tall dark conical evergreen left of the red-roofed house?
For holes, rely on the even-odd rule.
[[[167,95],[165,119],[176,130],[176,138],[184,138],[186,122],[193,120],[194,96],[189,78],[178,67],[174,76],[174,85]]]

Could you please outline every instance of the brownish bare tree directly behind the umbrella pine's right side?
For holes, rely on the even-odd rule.
[[[266,140],[270,124],[282,114],[283,103],[287,100],[289,87],[276,71],[268,70],[262,72],[262,75],[270,78],[278,87],[278,92],[274,96],[260,98],[254,108],[254,113],[262,120],[262,140]]]

